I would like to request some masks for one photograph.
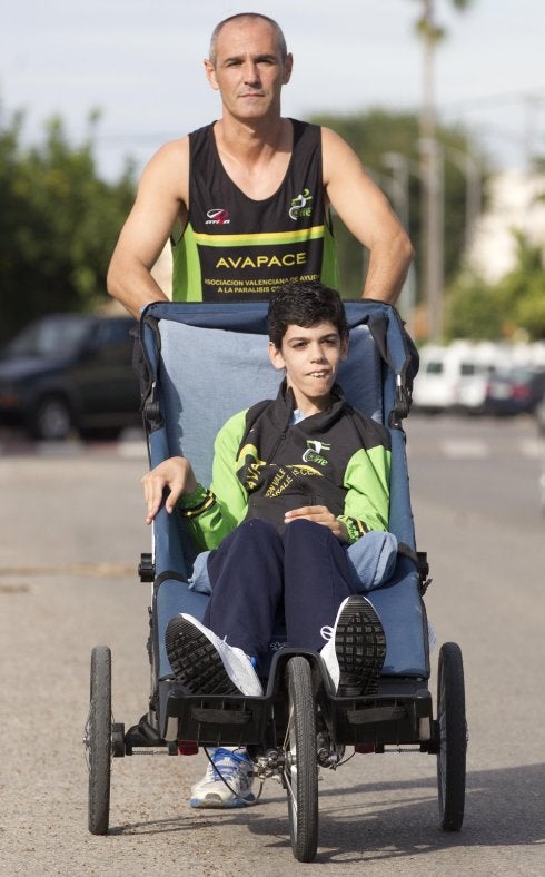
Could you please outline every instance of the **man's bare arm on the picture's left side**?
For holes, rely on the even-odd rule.
[[[125,223],[108,269],[107,287],[136,317],[167,296],[150,272],[177,218],[187,220],[189,140],[161,147],[142,174],[135,205]]]

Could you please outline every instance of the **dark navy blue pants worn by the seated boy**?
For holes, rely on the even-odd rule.
[[[346,552],[331,531],[294,521],[281,534],[245,521],[208,558],[212,593],[204,623],[229,646],[258,657],[281,612],[287,646],[319,650],[343,600],[355,588]]]

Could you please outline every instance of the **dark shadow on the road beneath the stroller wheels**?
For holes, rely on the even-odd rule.
[[[545,763],[468,773],[466,817],[460,832],[440,829],[437,787],[430,779],[321,789],[316,861],[346,863],[353,857],[360,859],[363,854],[366,860],[388,860],[457,847],[543,844],[544,789]],[[289,847],[287,807],[285,818],[267,815],[271,805],[283,800],[284,796],[275,795],[251,809],[191,811],[182,819],[115,827],[110,834],[206,832],[209,827],[237,825],[270,838],[269,848],[285,848]]]

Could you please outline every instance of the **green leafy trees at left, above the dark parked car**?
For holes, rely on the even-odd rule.
[[[93,158],[97,114],[86,142],[69,144],[59,119],[23,148],[23,117],[0,116],[1,336],[52,311],[90,311],[107,299],[106,272],[135,195],[132,169],[109,185]]]

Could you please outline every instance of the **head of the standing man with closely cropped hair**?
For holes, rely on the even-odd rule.
[[[224,109],[250,120],[280,112],[280,91],[291,73],[267,21],[242,19],[225,24],[216,43],[216,63],[205,61],[208,81],[221,92]]]

